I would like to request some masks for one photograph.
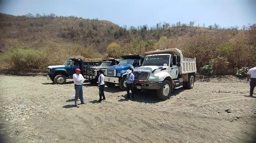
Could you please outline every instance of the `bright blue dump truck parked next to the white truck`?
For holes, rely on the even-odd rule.
[[[141,66],[144,57],[142,55],[124,55],[123,60],[115,66],[110,66],[105,70],[105,83],[108,87],[119,84],[121,90],[126,90],[126,71],[133,70]]]

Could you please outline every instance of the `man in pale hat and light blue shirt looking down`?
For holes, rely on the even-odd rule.
[[[125,99],[130,98],[130,90],[132,90],[132,99],[134,99],[134,89],[133,89],[133,81],[134,81],[134,75],[132,73],[132,70],[126,71],[127,77],[126,77],[126,83],[127,83],[127,97]]]

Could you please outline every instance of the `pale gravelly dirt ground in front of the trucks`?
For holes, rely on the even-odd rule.
[[[142,91],[124,100],[118,86],[84,83],[87,105],[74,106],[74,85],[52,84],[44,76],[0,75],[0,136],[4,142],[254,142],[256,98],[238,79],[196,82],[160,101]],[[225,110],[231,110],[231,113]]]

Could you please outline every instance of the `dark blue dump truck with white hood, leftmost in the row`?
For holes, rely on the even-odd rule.
[[[81,74],[85,76],[85,69],[87,67],[99,66],[102,61],[83,61],[82,59],[72,58],[67,60],[63,65],[48,66],[47,79],[51,79],[56,84],[66,83],[67,78],[73,78],[76,68],[80,68]]]

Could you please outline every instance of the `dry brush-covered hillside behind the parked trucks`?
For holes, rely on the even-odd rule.
[[[118,57],[164,47],[178,47],[186,57],[196,57],[198,69],[211,59],[222,60],[229,70],[225,74],[232,73],[235,67],[256,64],[255,24],[247,30],[221,29],[217,24],[202,28],[194,24],[164,22],[155,27],[126,28],[75,16],[0,13],[1,69],[43,70],[70,57]]]

